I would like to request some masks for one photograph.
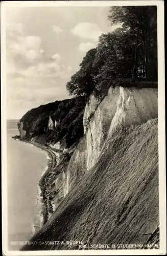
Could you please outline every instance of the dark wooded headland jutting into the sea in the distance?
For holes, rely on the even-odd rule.
[[[20,121],[26,131],[26,139],[43,137],[45,142],[64,143],[69,147],[83,136],[83,114],[85,99],[76,97],[40,105],[28,111]],[[59,121],[57,127],[50,130],[48,127],[49,116],[53,123]]]

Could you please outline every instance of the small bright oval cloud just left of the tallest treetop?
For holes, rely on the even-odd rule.
[[[74,29],[71,29],[71,32],[74,35],[80,36],[82,38],[89,38],[94,41],[97,41],[99,36],[104,32],[94,23],[78,23]]]

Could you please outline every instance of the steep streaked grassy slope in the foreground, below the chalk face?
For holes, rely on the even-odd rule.
[[[117,130],[31,241],[140,244],[159,224],[157,119]],[[149,225],[148,225],[149,223]],[[66,244],[22,250],[70,249]],[[78,249],[78,245],[71,249]]]

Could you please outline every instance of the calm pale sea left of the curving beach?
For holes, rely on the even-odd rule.
[[[42,226],[38,182],[49,157],[39,148],[15,140],[18,120],[7,120],[8,249],[19,250]],[[4,170],[5,171],[5,170]]]

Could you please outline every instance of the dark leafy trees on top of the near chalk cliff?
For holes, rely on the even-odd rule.
[[[157,81],[156,6],[112,7],[108,19],[122,27],[102,34],[97,48],[86,53],[66,84],[70,95],[106,94],[118,78]]]

